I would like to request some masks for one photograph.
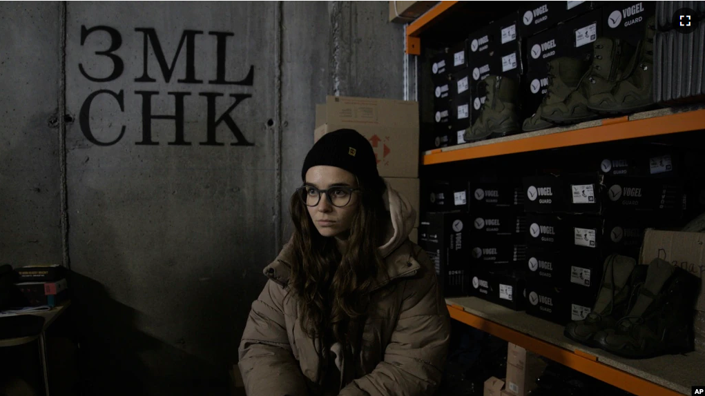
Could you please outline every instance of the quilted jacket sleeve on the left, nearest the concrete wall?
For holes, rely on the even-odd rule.
[[[250,396],[306,396],[307,386],[291,352],[283,313],[285,290],[269,280],[252,303],[240,342],[240,373]]]

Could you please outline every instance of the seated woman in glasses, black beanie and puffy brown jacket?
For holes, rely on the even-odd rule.
[[[354,130],[321,137],[301,177],[240,343],[247,395],[432,395],[450,323],[414,209]]]

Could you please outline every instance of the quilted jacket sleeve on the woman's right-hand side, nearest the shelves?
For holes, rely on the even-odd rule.
[[[384,361],[346,386],[341,396],[434,395],[446,364],[450,316],[428,256],[415,247],[423,271],[405,280],[404,300]]]

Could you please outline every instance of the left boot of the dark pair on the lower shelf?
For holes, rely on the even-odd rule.
[[[630,297],[644,283],[646,268],[638,266],[631,257],[618,254],[608,256],[595,306],[584,320],[568,323],[563,334],[589,347],[599,347],[594,335],[606,328],[613,328],[627,314]]]

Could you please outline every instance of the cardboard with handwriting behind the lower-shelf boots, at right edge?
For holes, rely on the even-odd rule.
[[[649,264],[657,257],[679,266],[701,280],[705,279],[705,233],[681,233],[649,229],[644,233],[640,264]],[[695,309],[705,311],[705,281],[700,287]]]

